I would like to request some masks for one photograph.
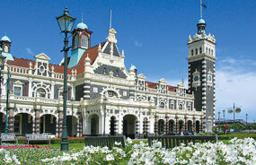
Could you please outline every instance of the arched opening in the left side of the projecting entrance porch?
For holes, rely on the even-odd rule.
[[[90,135],[99,135],[100,117],[93,113],[88,117],[87,126]]]

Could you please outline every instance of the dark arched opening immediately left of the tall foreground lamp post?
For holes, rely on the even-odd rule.
[[[40,134],[49,133],[56,135],[57,117],[53,114],[43,114],[40,116]]]

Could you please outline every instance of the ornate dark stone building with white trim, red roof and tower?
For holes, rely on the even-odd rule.
[[[124,64],[125,53],[117,45],[116,30],[91,47],[93,32],[81,22],[72,35],[67,69],[68,135],[171,135],[212,131],[215,118],[215,39],[206,35],[205,22],[189,38],[189,89],[184,83],[168,85],[146,81],[144,74]],[[35,59],[13,57],[11,39],[1,41],[4,84],[10,77],[8,130],[16,135],[49,133],[60,136],[63,124],[63,65],[49,63],[41,53]],[[6,115],[6,85],[2,85],[1,131]]]

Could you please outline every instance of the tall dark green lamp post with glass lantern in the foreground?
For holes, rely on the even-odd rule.
[[[63,15],[56,18],[58,26],[61,32],[65,33],[64,39],[64,48],[61,51],[64,51],[64,89],[63,89],[63,129],[61,135],[61,143],[60,143],[60,150],[61,151],[68,151],[68,142],[67,142],[67,129],[66,129],[66,74],[67,74],[67,52],[69,50],[67,33],[69,33],[73,25],[75,23],[75,18],[69,16],[67,8],[65,9]]]

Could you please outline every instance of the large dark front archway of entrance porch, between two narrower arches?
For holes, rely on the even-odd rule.
[[[137,116],[128,114],[123,117],[123,135],[135,138],[137,133]]]

